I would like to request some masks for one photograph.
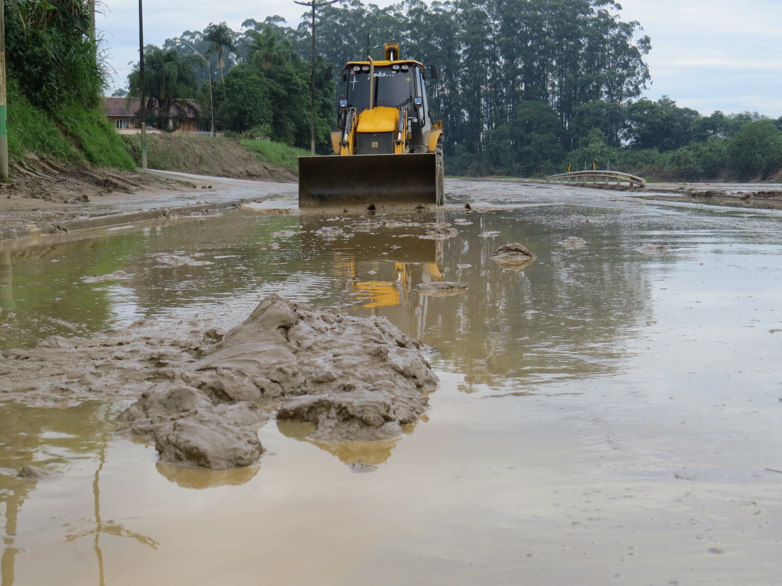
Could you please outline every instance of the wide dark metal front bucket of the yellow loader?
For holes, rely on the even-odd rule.
[[[299,157],[299,206],[438,205],[436,156]]]

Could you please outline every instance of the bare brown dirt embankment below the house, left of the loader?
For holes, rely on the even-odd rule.
[[[131,155],[139,162],[141,137],[124,137]],[[150,169],[295,183],[296,174],[280,166],[265,163],[232,138],[185,137],[171,134],[147,135],[147,166]]]

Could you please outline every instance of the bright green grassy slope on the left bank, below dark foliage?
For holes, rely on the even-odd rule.
[[[48,114],[13,90],[8,93],[8,143],[12,162],[31,152],[63,163],[136,168],[102,113],[74,104]]]

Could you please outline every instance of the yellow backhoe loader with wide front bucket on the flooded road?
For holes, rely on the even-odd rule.
[[[343,70],[332,156],[299,157],[299,205],[443,205],[443,123],[426,101],[426,68],[399,58]],[[437,70],[429,68],[436,79]]]

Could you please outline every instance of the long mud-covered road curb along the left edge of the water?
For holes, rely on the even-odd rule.
[[[0,228],[0,241],[18,240],[39,234],[63,234],[75,230],[88,230],[90,228],[102,228],[117,226],[118,224],[131,222],[146,222],[149,220],[163,220],[172,216],[192,212],[210,212],[217,209],[239,207],[243,203],[263,202],[269,196],[256,198],[230,199],[224,202],[212,202],[196,205],[180,205],[174,208],[143,209],[138,212],[114,213],[105,216],[91,216],[89,218],[75,218],[61,222],[48,222],[41,224],[27,224],[22,226],[10,226]]]

